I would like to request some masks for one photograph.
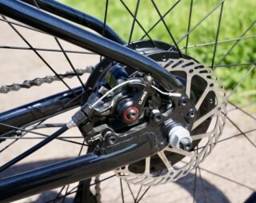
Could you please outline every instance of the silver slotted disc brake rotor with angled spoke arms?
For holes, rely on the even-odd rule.
[[[211,152],[226,121],[225,90],[213,70],[192,58],[173,57],[174,53],[159,50],[155,53],[158,59],[154,60],[182,82],[198,115],[191,131],[190,152],[168,145],[152,157],[115,170],[123,181],[138,185],[159,185],[186,176]]]

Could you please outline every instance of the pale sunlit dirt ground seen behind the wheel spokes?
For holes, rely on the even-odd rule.
[[[18,26],[17,29],[22,32],[34,47],[59,50],[54,38],[46,34],[37,34],[34,33],[34,31],[26,30]],[[14,31],[11,30],[10,26],[5,22],[0,22],[0,30],[0,46],[28,47],[26,43],[22,42],[21,38],[18,37],[18,34],[14,34]],[[82,50],[66,42],[62,42],[62,46],[64,46],[66,50]],[[38,53],[42,54],[42,56],[46,58],[46,61],[49,62],[58,73],[65,73],[67,70],[71,70],[62,53],[46,51],[38,51]],[[98,55],[68,55],[76,68],[94,65],[99,59]],[[26,79],[53,75],[32,50],[0,49],[0,62],[0,86],[9,85],[14,82],[23,82]],[[83,76],[83,80],[86,80],[87,77],[88,75]],[[78,86],[78,82],[75,79],[67,79],[66,82],[72,87]],[[14,106],[32,102],[35,99],[44,98],[62,90],[66,90],[66,87],[63,86],[61,82],[54,82],[52,85],[46,84],[42,87],[33,87],[30,90],[20,90],[6,95],[1,94],[0,110],[2,112]],[[251,108],[252,107],[248,110],[251,110]],[[253,108],[255,108],[255,106]],[[229,106],[229,109],[234,109],[234,106]],[[72,113],[74,113],[74,110],[65,113],[65,115],[61,117],[54,117],[53,120],[58,122],[69,121]],[[239,110],[231,110],[229,117],[242,131],[255,128],[255,120],[246,116],[245,113]],[[54,129],[47,129],[44,133],[50,134],[53,130]],[[239,130],[234,128],[234,125],[232,125],[230,121],[227,121],[226,128],[220,140],[238,133],[240,133]],[[65,136],[78,135],[79,132],[77,129],[71,129],[68,133],[65,133]],[[34,135],[28,134],[27,136],[33,137]],[[253,141],[255,145],[255,132],[246,133],[246,136],[250,137],[250,140]],[[1,153],[0,164],[2,165],[10,160],[11,157],[25,151],[38,141],[38,139],[35,141],[24,139],[11,145],[9,150]],[[1,143],[0,149],[8,143],[10,143],[10,141]],[[62,160],[64,158],[77,156],[79,150],[80,147],[78,145],[72,145],[64,141],[52,141],[43,149],[38,150],[38,152],[21,161],[18,164],[20,167],[14,166],[13,169],[10,169],[10,173],[18,173],[25,169],[36,168],[38,165],[46,165],[50,163],[49,161],[47,162],[47,160]],[[83,149],[83,152],[85,150],[86,149]],[[200,165],[202,169],[201,173],[197,173],[195,189],[196,202],[244,202],[246,198],[253,193],[253,190],[256,189],[255,160],[256,148],[243,135],[220,142],[209,157],[206,158],[206,161]],[[166,185],[150,188],[141,202],[192,202],[194,196],[194,173],[195,171],[192,171],[179,182],[170,182]],[[107,177],[111,174],[113,174],[113,172],[104,174],[100,178]],[[116,177],[111,178],[109,181],[102,182],[102,202],[122,202],[119,184],[120,182]],[[126,183],[122,182],[122,185],[124,186],[124,195],[126,197],[125,202],[134,202]],[[72,185],[70,187],[72,187]],[[138,185],[132,186],[134,193],[138,193],[138,189]],[[145,189],[146,187],[143,187],[142,192]],[[49,199],[49,197],[54,197],[56,194],[56,191],[46,192],[17,202],[43,202]],[[66,200],[66,202],[70,201],[71,198]]]

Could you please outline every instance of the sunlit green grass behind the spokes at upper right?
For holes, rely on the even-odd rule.
[[[67,5],[74,6],[78,10],[82,10],[87,14],[91,14],[101,20],[104,19],[105,12],[105,0],[62,0]],[[132,18],[127,12],[122,3],[118,0],[109,0],[108,18],[107,24],[111,26],[122,38],[128,40],[130,35],[130,27],[132,24]],[[134,13],[137,1],[126,0],[127,6]],[[155,0],[162,14],[174,4],[174,0]],[[193,14],[191,20],[191,26],[194,26],[199,22],[212,8],[218,5],[220,0],[194,0]],[[238,38],[244,30],[246,30],[255,18],[256,1],[251,0],[226,0],[223,8],[222,23],[220,27],[220,33],[218,40],[226,40],[232,38]],[[178,6],[170,12],[165,18],[167,26],[174,35],[174,38],[178,40],[187,31],[187,22],[189,18],[190,1],[182,0],[178,3]],[[196,28],[190,34],[189,46],[197,45],[206,42],[214,42],[216,31],[218,28],[218,17],[220,13],[220,7],[210,15],[198,28]],[[140,1],[138,9],[138,20],[141,22],[145,30],[149,30],[154,22],[158,20],[158,13],[154,10],[154,6],[150,0]],[[254,25],[245,36],[256,34],[256,25]],[[143,35],[143,31],[136,24],[134,27],[133,41],[140,39]],[[170,40],[170,36],[167,34],[165,26],[159,23],[158,26],[150,33],[150,36],[154,39],[162,40],[165,42],[173,42]],[[215,65],[222,58],[223,54],[230,49],[234,42],[218,44],[217,54],[215,58]],[[184,47],[186,45],[186,39],[183,40],[179,46]],[[198,59],[198,61],[210,66],[213,58],[214,46],[204,46],[198,48],[191,48],[188,50],[188,54]],[[256,38],[250,38],[238,42],[234,50],[221,62],[221,65],[225,64],[239,64],[246,62],[256,62]],[[222,79],[226,90],[232,90],[241,80],[242,76],[246,74],[246,71],[251,66],[236,66],[230,68],[217,68],[216,73]],[[230,99],[236,103],[246,103],[248,101],[256,100],[256,71],[253,70],[242,86],[236,90],[236,94]]]

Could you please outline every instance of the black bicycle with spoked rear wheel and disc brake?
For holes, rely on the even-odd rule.
[[[93,195],[90,186],[98,185],[102,180],[111,177],[119,177],[121,187],[122,181],[125,181],[129,188],[130,184],[150,188],[153,185],[178,181],[193,169],[197,176],[200,172],[199,163],[205,160],[219,142],[218,138],[226,121],[230,121],[240,131],[238,135],[244,135],[250,141],[250,145],[255,147],[252,138],[246,135],[253,133],[254,129],[245,132],[227,117],[230,94],[234,94],[238,86],[254,70],[255,62],[248,63],[252,67],[229,95],[226,95],[222,82],[213,71],[216,68],[214,60],[220,43],[218,34],[225,0],[218,2],[206,14],[207,18],[214,10],[220,9],[216,38],[212,43],[214,53],[210,67],[187,54],[188,36],[202,23],[201,21],[195,26],[190,26],[193,0],[190,3],[187,33],[178,41],[174,39],[164,20],[166,14],[162,15],[157,2],[150,2],[158,14],[157,23],[162,22],[170,36],[171,44],[151,38],[150,32],[154,30],[155,24],[149,31],[143,28],[137,18],[140,1],[136,2],[134,14],[125,2],[121,2],[132,17],[128,42],[107,26],[107,0],[103,22],[52,0],[0,0],[1,21],[9,25],[27,46],[1,48],[30,50],[54,74],[2,86],[1,93],[11,94],[13,91],[32,89],[34,86],[55,81],[61,81],[67,89],[61,93],[57,90],[57,94],[0,113],[1,143],[7,143],[1,152],[9,149],[17,141],[25,139],[30,133],[46,137],[4,163],[0,167],[0,173],[4,174],[11,166],[43,146],[49,145],[51,141],[65,141],[79,146],[78,157],[3,178],[0,181],[1,202],[16,201],[59,187],[61,188],[57,197],[47,201],[65,201],[67,196],[75,195],[74,202],[99,202],[99,189],[96,188],[96,194]],[[174,2],[167,11],[173,10],[179,2]],[[98,34],[83,30],[71,22],[86,26]],[[255,21],[251,25],[254,26],[254,23]],[[148,39],[133,40],[135,25],[142,29],[143,38]],[[58,50],[35,48],[17,26],[39,34],[52,35]],[[242,38],[243,36],[232,41],[237,43]],[[255,38],[255,35],[251,38]],[[85,50],[66,50],[61,39]],[[178,46],[183,39],[186,39],[184,53]],[[63,54],[70,71],[58,74],[43,57],[42,51]],[[71,62],[69,54],[98,54],[100,62],[78,70]],[[84,74],[90,74],[86,82],[82,79]],[[76,84],[79,86],[70,87],[66,78],[77,78],[79,83]],[[253,114],[247,113],[238,105],[234,107],[255,120]],[[63,123],[63,120],[60,120],[58,123],[46,123],[54,117],[61,119],[63,113],[72,113],[69,122]],[[40,132],[42,129],[54,128],[58,130],[50,135]],[[63,137],[62,134],[74,128],[79,129],[76,137]],[[87,153],[82,155],[85,148]],[[115,175],[99,180],[99,175],[111,170],[114,170]],[[90,183],[93,177],[95,182]],[[70,186],[65,186],[74,182],[79,183],[70,190]],[[241,185],[255,191],[252,186]],[[65,189],[66,192],[62,195]],[[145,193],[134,198],[134,202],[141,201],[144,195]],[[123,199],[122,196],[122,201]]]

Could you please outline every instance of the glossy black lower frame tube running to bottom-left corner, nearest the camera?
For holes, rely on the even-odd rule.
[[[154,148],[152,143],[145,140],[140,144],[133,144],[126,149],[107,155],[98,156],[89,153],[14,177],[7,177],[0,181],[0,203],[16,201],[36,193],[106,173],[122,165],[153,155],[155,152],[151,150],[152,148]]]

